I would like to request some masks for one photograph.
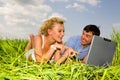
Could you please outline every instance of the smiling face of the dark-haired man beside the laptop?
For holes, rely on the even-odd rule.
[[[81,44],[83,46],[90,45],[90,43],[92,41],[92,38],[93,38],[93,33],[92,32],[83,31],[83,33],[81,35]]]

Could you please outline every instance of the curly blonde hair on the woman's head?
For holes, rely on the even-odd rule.
[[[53,28],[54,23],[59,23],[59,24],[64,24],[64,20],[59,18],[59,17],[52,17],[50,19],[47,19],[40,27],[40,32],[39,34],[48,36],[48,29]]]

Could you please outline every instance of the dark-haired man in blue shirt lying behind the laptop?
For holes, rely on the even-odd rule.
[[[72,36],[67,42],[66,46],[73,48],[75,51],[79,52],[75,58],[82,60],[84,63],[87,58],[87,54],[90,48],[90,44],[94,35],[99,36],[100,30],[96,25],[89,24],[84,27],[82,35]]]

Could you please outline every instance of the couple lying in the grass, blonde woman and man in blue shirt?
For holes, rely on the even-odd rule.
[[[64,20],[59,17],[47,19],[40,27],[39,35],[30,35],[25,48],[27,60],[40,62],[63,63],[67,57],[76,57],[86,61],[89,45],[93,35],[100,35],[96,25],[87,25],[82,36],[69,38],[66,45],[62,43],[64,36]]]

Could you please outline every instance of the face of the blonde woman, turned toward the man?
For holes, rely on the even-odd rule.
[[[54,23],[53,28],[50,30],[50,35],[56,42],[62,42],[64,36],[64,25],[59,23]]]

